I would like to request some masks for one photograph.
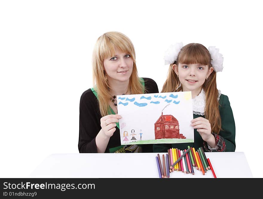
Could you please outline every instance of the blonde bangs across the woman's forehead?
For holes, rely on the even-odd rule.
[[[115,50],[131,55],[135,60],[134,47],[126,38],[113,37],[113,35],[103,35],[99,43],[99,57],[103,61],[107,57],[114,57]]]

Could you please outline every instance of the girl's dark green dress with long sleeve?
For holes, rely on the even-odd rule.
[[[221,129],[219,136],[223,138],[225,149],[223,151],[231,152],[236,149],[236,127],[233,117],[233,112],[230,107],[230,102],[227,95],[220,95],[219,98],[219,112],[221,116]],[[198,117],[205,118],[204,115],[193,114],[194,119]],[[202,137],[196,129],[194,129],[194,142],[193,143],[178,143],[178,144],[155,144],[153,145],[153,152],[167,152],[170,148],[178,148],[180,150],[187,149],[187,146],[194,147],[196,150],[199,147],[208,148],[207,143],[203,141]],[[209,150],[205,150],[209,151]],[[219,150],[210,150],[210,151],[219,151]]]

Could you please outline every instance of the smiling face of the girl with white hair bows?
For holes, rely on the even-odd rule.
[[[204,81],[209,77],[213,68],[202,64],[183,64],[173,65],[176,75],[182,84],[183,91],[200,92]]]

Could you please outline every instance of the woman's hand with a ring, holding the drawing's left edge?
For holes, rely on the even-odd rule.
[[[100,119],[101,130],[107,137],[111,137],[116,130],[116,122],[121,119],[120,115],[107,115]]]

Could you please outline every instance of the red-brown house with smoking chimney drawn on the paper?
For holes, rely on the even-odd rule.
[[[162,138],[179,138],[186,139],[183,134],[179,133],[179,122],[172,115],[162,115],[154,123],[155,139]]]

